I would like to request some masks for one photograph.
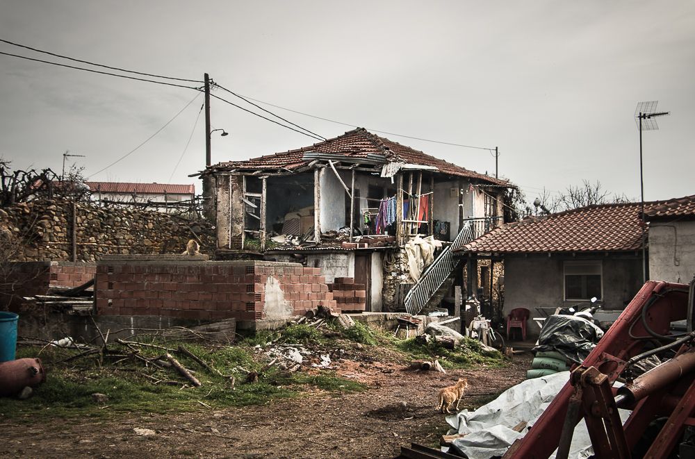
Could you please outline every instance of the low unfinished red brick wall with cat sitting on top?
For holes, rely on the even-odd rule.
[[[254,261],[128,260],[97,263],[101,315],[162,315],[182,319],[265,319],[265,283],[272,276],[295,315],[327,306],[339,312],[320,269]]]

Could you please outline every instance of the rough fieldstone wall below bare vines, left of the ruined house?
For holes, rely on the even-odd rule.
[[[90,203],[30,201],[0,209],[0,232],[19,242],[17,261],[99,260],[106,254],[181,253],[197,238],[202,253],[216,248],[213,227],[162,212],[99,208]],[[74,237],[73,237],[74,235]],[[3,262],[3,260],[0,260]]]

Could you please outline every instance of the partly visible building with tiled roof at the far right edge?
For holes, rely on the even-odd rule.
[[[647,203],[649,278],[689,283],[695,275],[695,195]]]

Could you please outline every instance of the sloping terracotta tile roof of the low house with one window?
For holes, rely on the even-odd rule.
[[[639,203],[605,204],[530,217],[464,245],[473,253],[632,251],[641,248]]]

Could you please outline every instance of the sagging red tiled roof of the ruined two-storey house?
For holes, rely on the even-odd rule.
[[[309,147],[302,147],[274,155],[261,156],[246,161],[220,162],[211,169],[297,169],[308,165],[311,160],[302,159],[306,153],[324,153],[347,156],[349,158],[368,158],[369,155],[379,155],[392,162],[406,162],[414,165],[434,166],[444,174],[479,178],[480,180],[497,185],[510,185],[508,181],[499,180],[485,174],[478,174],[464,167],[446,162],[422,151],[411,149],[398,142],[379,137],[364,128],[348,131],[343,135],[325,140]]]

